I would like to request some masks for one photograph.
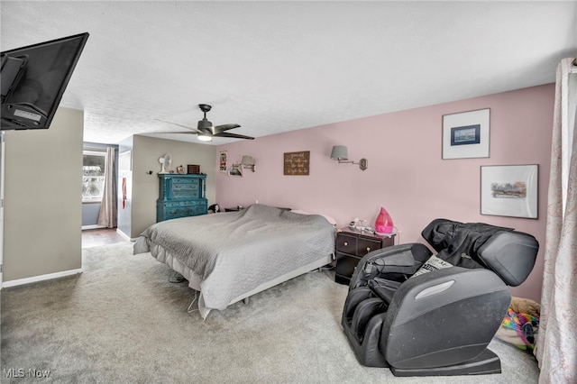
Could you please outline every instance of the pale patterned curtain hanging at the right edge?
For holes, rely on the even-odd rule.
[[[576,105],[577,59],[563,59],[555,86],[545,271],[535,350],[540,383],[577,382]]]

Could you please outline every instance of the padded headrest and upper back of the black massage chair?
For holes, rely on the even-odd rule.
[[[528,233],[484,223],[435,219],[421,234],[439,258],[466,268],[487,268],[513,287],[527,279],[539,250]]]

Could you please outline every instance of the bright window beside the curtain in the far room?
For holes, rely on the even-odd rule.
[[[106,152],[84,151],[82,163],[82,202],[102,201],[105,190]]]

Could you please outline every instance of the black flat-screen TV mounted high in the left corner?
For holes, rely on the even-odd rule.
[[[1,129],[47,129],[88,33],[1,52]]]

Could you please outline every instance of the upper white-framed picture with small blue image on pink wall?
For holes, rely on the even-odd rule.
[[[488,158],[490,108],[443,115],[443,159]]]

